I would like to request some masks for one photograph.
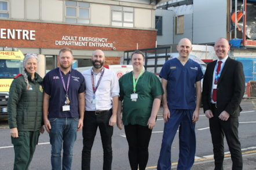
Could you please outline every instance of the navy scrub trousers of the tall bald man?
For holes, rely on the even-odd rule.
[[[170,118],[164,124],[158,170],[171,169],[171,144],[179,128],[180,154],[177,169],[191,169],[195,160],[196,135],[192,116],[195,109],[170,109]]]

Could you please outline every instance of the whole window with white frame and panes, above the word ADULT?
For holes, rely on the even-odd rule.
[[[65,22],[89,24],[90,3],[65,1]]]

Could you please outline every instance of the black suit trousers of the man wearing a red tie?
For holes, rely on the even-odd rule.
[[[213,142],[215,170],[223,169],[224,161],[224,135],[228,143],[232,159],[232,170],[243,169],[243,158],[238,136],[238,117],[229,117],[227,121],[218,118],[215,106],[211,107],[214,117],[209,119],[211,140]]]

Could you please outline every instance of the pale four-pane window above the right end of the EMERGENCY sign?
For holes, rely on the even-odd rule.
[[[111,6],[112,25],[118,27],[133,27],[134,10],[125,6]]]

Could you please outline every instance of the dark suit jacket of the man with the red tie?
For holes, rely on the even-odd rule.
[[[217,60],[207,65],[203,79],[202,104],[204,112],[211,109],[211,87],[213,72]],[[217,112],[218,115],[225,110],[232,117],[239,116],[242,109],[240,102],[245,91],[243,65],[241,62],[228,57],[222,69],[217,86]]]

